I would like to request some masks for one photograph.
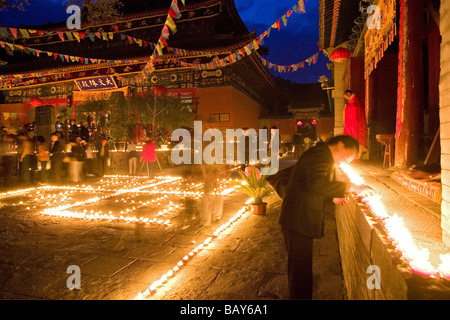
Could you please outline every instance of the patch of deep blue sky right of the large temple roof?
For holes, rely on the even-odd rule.
[[[298,1],[298,0],[297,0]],[[238,12],[249,31],[256,30],[260,35],[281,18],[297,3],[296,0],[235,0]],[[264,46],[269,48],[266,60],[279,64],[295,64],[311,57],[319,51],[319,0],[305,0],[305,13],[293,13],[281,31],[272,29],[269,38],[264,38]],[[317,83],[321,75],[330,77],[326,67],[329,62],[319,53],[317,64],[305,65],[296,72],[278,73],[275,76],[299,83]]]

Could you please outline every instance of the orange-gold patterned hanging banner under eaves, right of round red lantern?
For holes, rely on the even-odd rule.
[[[383,58],[384,52],[394,41],[396,34],[396,0],[379,0],[374,3],[377,9],[368,19],[380,23],[371,24],[364,36],[365,40],[365,78],[375,70],[378,62]],[[370,22],[369,21],[369,22]]]

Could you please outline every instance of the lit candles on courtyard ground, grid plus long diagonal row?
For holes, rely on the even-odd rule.
[[[234,171],[236,169],[232,169]],[[238,179],[218,180],[219,187],[215,188],[210,195],[227,196],[237,188]],[[230,186],[231,185],[231,186]],[[78,219],[81,221],[105,221],[123,223],[142,223],[155,226],[171,226],[170,218],[176,216],[179,209],[183,208],[183,203],[175,204],[177,200],[202,199],[205,195],[202,190],[203,183],[187,183],[181,177],[158,176],[154,180],[147,177],[130,177],[125,175],[105,176],[97,185],[68,185],[68,186],[40,186],[0,193],[0,210],[2,208],[16,207],[32,211],[42,209],[40,215]],[[85,197],[88,199],[78,200],[76,198]],[[22,200],[7,203],[8,199],[21,197]],[[140,196],[153,196],[151,200],[138,200]],[[25,199],[23,199],[25,197]],[[128,208],[113,214],[112,211],[102,212],[101,210],[86,209],[87,206],[98,207],[101,201],[111,201],[113,205],[130,205]],[[210,245],[210,243],[224,234],[226,230],[236,223],[246,212],[248,204],[253,199],[249,199],[240,210],[238,210],[228,221],[221,224],[202,243],[186,254],[157,281],[153,282],[146,290],[137,294],[135,299],[146,299],[153,295],[158,288],[163,286],[170,278],[173,278],[188,261],[194,258],[200,251]],[[83,209],[78,209],[83,207]],[[156,217],[132,216],[134,212],[143,208],[153,208],[157,211]]]

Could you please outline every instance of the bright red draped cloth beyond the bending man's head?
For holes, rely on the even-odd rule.
[[[364,107],[358,96],[352,95],[345,105],[344,134],[350,135],[367,148],[367,128]]]

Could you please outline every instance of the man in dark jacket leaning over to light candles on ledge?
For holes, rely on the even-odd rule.
[[[288,252],[291,299],[312,299],[313,239],[323,236],[325,201],[345,202],[347,192],[373,192],[370,187],[335,181],[335,165],[353,161],[359,143],[337,136],[305,152],[292,169],[279,223]]]

